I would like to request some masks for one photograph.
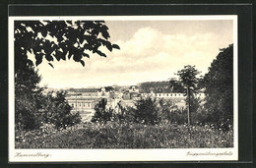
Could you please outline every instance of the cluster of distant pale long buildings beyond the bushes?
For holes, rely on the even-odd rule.
[[[200,99],[205,98],[203,92],[196,94]],[[72,112],[80,112],[82,120],[90,120],[95,114],[96,104],[102,99],[107,100],[106,108],[112,108],[115,112],[120,112],[122,106],[133,106],[134,103],[146,97],[166,99],[172,101],[178,108],[185,108],[186,94],[173,92],[169,87],[147,88],[140,90],[137,85],[120,87],[118,89],[112,86],[99,88],[70,88],[67,91],[67,101],[72,106]],[[119,104],[118,104],[119,103]]]

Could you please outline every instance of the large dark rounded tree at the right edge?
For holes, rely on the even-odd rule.
[[[214,122],[232,121],[233,116],[233,44],[221,49],[205,75],[205,107]]]

